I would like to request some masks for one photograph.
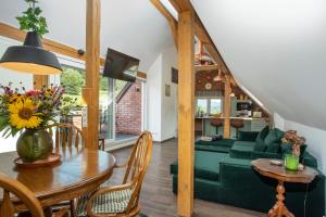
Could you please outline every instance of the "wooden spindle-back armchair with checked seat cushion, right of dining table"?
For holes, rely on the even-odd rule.
[[[131,217],[139,213],[139,195],[141,184],[152,155],[152,136],[145,131],[138,138],[133,152],[125,165],[126,168],[121,186],[100,187],[89,196],[80,200],[77,206],[78,216],[90,217]],[[87,212],[87,213],[86,213]]]

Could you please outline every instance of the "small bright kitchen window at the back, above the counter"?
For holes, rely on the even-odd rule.
[[[216,115],[222,112],[222,99],[220,98],[198,98],[196,100],[197,114]]]

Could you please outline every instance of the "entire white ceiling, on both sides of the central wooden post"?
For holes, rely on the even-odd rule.
[[[325,0],[191,0],[234,76],[272,112],[326,129]],[[0,0],[0,21],[17,26],[23,0]],[[42,0],[53,40],[85,49],[86,0]],[[173,46],[149,0],[102,0],[106,48],[141,60],[147,72]]]

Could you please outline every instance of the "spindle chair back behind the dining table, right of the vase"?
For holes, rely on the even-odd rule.
[[[49,129],[55,135],[55,148],[84,146],[84,136],[78,127],[71,124],[54,124],[49,126]]]

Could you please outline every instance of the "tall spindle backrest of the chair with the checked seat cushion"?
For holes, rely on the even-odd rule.
[[[152,135],[149,131],[143,131],[129,156],[126,174],[123,184],[131,183],[133,194],[128,203],[126,213],[129,213],[133,207],[138,204],[141,184],[152,156]]]

